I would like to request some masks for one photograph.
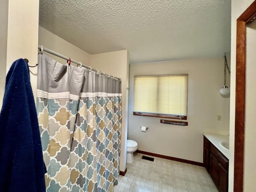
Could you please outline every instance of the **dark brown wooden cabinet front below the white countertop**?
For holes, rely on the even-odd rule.
[[[204,136],[204,166],[220,192],[228,192],[228,158]]]

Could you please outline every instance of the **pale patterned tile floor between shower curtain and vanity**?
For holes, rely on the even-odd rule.
[[[152,162],[139,153],[134,158],[114,192],[218,192],[204,167],[157,157]]]

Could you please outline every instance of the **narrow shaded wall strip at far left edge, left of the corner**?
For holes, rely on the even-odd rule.
[[[7,56],[7,32],[8,32],[8,0],[1,2],[0,6],[0,109],[4,97]]]

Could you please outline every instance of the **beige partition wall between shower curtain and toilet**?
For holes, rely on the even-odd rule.
[[[127,111],[128,111],[128,77],[129,56],[127,50],[115,51],[102,54],[94,54],[90,57],[90,65],[105,73],[116,77],[122,77],[122,135],[120,152],[120,171],[126,169],[127,153]]]

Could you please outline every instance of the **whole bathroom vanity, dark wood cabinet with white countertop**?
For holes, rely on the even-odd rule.
[[[204,166],[220,192],[228,192],[228,136],[204,134]]]

